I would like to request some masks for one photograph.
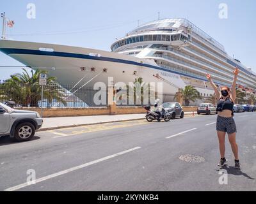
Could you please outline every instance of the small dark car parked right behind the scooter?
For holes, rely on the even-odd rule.
[[[168,112],[172,119],[179,117],[180,119],[184,118],[184,111],[180,103],[177,102],[166,102],[163,103],[163,108]]]

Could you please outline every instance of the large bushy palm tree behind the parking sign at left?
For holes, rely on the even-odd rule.
[[[4,94],[2,98],[6,100],[12,99],[15,103],[19,103],[23,106],[38,106],[38,101],[41,100],[42,86],[39,85],[39,76],[41,73],[47,74],[47,71],[40,71],[31,69],[31,75],[29,75],[26,69],[23,69],[23,73],[12,75],[10,79],[6,80],[2,84]],[[47,86],[44,87],[44,96],[48,103],[52,103],[53,99],[58,102],[67,105],[64,96],[65,89],[60,86],[56,86],[55,77],[47,78]],[[2,95],[0,92],[0,95]]]

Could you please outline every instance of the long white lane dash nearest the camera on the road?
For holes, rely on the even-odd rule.
[[[120,155],[122,155],[122,154],[126,154],[126,153],[132,152],[132,151],[134,151],[134,150],[138,150],[138,149],[140,149],[140,148],[141,148],[141,147],[135,147],[135,148],[133,148],[133,149],[125,150],[125,151],[123,151],[123,152],[119,152],[119,153],[113,154],[113,155],[111,155],[111,156],[103,157],[103,158],[101,158],[101,159],[97,159],[97,160],[91,161],[91,162],[89,162],[89,163],[81,164],[81,165],[79,165],[79,166],[75,166],[75,167],[73,167],[73,168],[69,168],[69,169],[67,169],[67,170],[60,171],[60,172],[58,172],[58,173],[53,173],[53,174],[48,175],[48,176],[46,176],[46,177],[42,177],[42,178],[40,178],[40,179],[36,179],[35,182],[36,182],[36,184],[38,184],[39,182],[43,182],[43,181],[45,181],[45,180],[49,180],[49,179],[52,179],[52,178],[54,178],[54,177],[58,177],[58,176],[60,176],[60,175],[64,175],[64,174],[66,174],[66,173],[70,173],[70,172],[72,172],[72,171],[79,170],[79,169],[84,168],[84,167],[86,167],[86,166],[91,166],[92,164],[100,163],[101,161],[106,161],[106,160],[111,159],[111,158],[113,158],[113,157],[117,157],[117,156],[120,156]],[[10,188],[8,188],[8,189],[5,189],[4,191],[16,191],[16,190],[18,190],[18,189],[22,189],[23,187],[28,187],[28,186],[31,186],[31,185],[32,185],[32,184],[24,183],[24,184],[20,184],[20,185],[18,185],[18,186],[13,186],[13,187],[10,187]]]

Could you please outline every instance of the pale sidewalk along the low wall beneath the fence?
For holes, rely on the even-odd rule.
[[[191,115],[193,112],[185,112]],[[86,126],[90,124],[102,124],[108,122],[120,122],[129,120],[145,119],[146,113],[128,115],[93,115],[80,117],[53,117],[44,118],[44,124],[39,131],[46,131],[59,128],[71,128],[76,126]]]

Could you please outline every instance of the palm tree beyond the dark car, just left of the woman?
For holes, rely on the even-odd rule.
[[[187,85],[184,89],[180,89],[180,92],[182,93],[182,98],[186,106],[189,106],[190,101],[195,102],[196,99],[202,99],[200,93],[191,85]],[[175,95],[175,98],[177,98],[177,95]]]

